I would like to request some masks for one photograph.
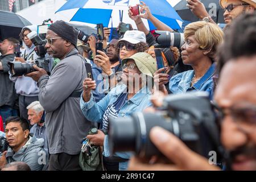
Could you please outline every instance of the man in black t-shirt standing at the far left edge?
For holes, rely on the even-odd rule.
[[[18,115],[18,110],[14,109],[16,90],[14,82],[9,79],[10,61],[14,60],[14,46],[18,44],[18,40],[7,38],[0,43],[0,115],[5,123],[6,118]]]

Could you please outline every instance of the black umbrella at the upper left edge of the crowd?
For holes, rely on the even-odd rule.
[[[0,11],[0,40],[8,37],[19,39],[23,27],[31,25],[22,16],[8,11]]]

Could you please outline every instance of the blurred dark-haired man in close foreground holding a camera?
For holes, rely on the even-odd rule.
[[[219,48],[225,56],[220,63],[220,80],[214,100],[221,116],[218,120],[221,142],[228,152],[227,169],[256,170],[255,37],[256,14],[242,15],[231,24],[224,44]],[[154,127],[150,138],[173,164],[148,165],[134,158],[130,162],[131,170],[218,169],[164,129]]]

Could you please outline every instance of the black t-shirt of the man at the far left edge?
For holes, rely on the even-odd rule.
[[[0,56],[0,61],[3,67],[3,70],[0,71],[0,107],[3,105],[13,107],[17,97],[14,82],[9,78],[10,65],[8,63],[14,61],[14,57],[14,54]]]

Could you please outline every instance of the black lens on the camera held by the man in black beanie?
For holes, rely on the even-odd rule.
[[[35,71],[33,68],[34,64],[20,63],[15,61],[10,61],[9,64],[11,76],[22,76]]]

